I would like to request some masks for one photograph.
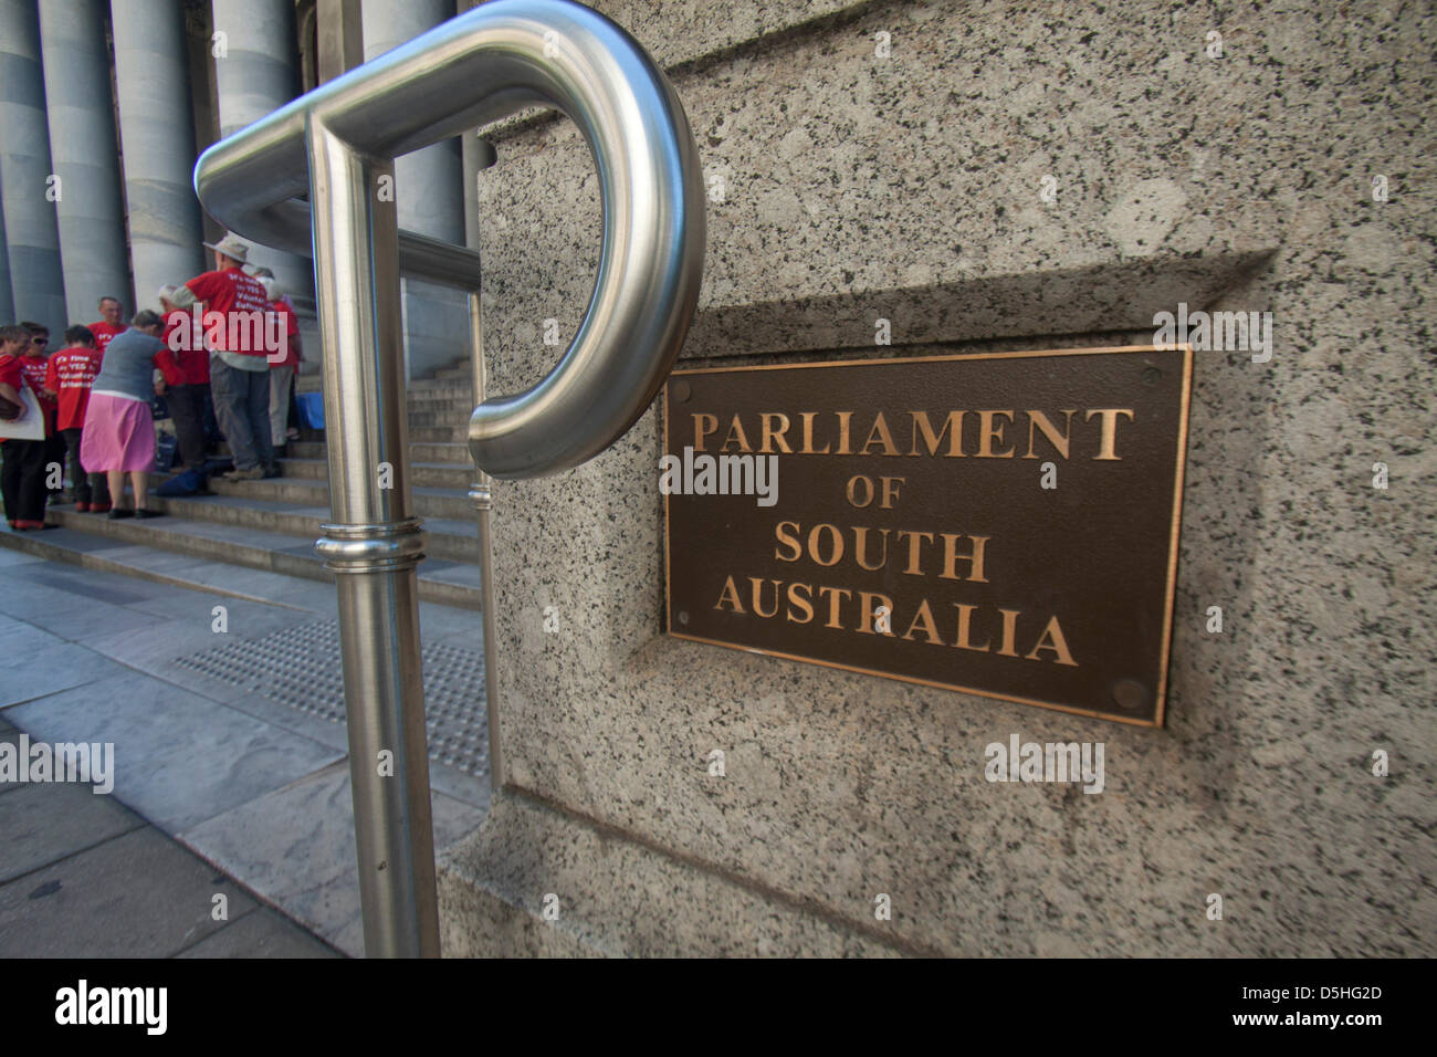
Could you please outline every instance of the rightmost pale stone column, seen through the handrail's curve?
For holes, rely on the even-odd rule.
[[[364,0],[365,62],[454,17],[454,0]],[[395,158],[399,227],[464,244],[464,175],[460,141],[447,139]],[[404,355],[410,377],[445,367],[468,348],[463,292],[402,280]]]

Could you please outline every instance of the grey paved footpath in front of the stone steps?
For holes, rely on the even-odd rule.
[[[0,956],[361,955],[333,587],[208,564],[195,590],[168,558],[144,578],[0,546],[0,741],[114,745],[111,794],[0,784]],[[479,614],[422,603],[421,627],[427,685],[471,700]],[[437,847],[489,802],[445,748],[481,726],[463,710],[431,735],[458,761],[431,762]]]

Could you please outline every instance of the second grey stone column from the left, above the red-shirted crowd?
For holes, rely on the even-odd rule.
[[[134,309],[119,152],[109,93],[105,0],[40,0],[40,52],[50,124],[50,163],[59,177],[55,211],[72,322],[98,319],[102,296]],[[154,290],[141,290],[148,298]]]

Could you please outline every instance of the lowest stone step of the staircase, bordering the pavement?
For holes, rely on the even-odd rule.
[[[283,594],[280,577],[333,582],[315,554],[315,541],[257,528],[178,518],[111,521],[52,506],[49,532],[0,531],[0,545],[86,568],[267,600]],[[316,536],[318,538],[318,536]],[[253,571],[236,582],[228,568]],[[256,581],[253,577],[273,577]],[[425,558],[418,565],[420,598],[440,605],[477,610],[481,604],[479,567]]]

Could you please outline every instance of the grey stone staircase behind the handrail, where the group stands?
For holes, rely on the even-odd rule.
[[[300,377],[299,383],[302,391],[318,388],[315,375]],[[411,489],[428,534],[427,557],[418,569],[420,598],[477,610],[476,522],[467,496],[474,477],[466,443],[473,411],[467,362],[411,381],[408,404]],[[286,454],[282,477],[214,479],[210,496],[151,495],[147,505],[167,518],[111,521],[78,513],[72,505],[50,506],[47,521],[63,532],[0,531],[0,542],[45,558],[178,584],[194,581],[210,562],[333,581],[333,572],[323,568],[313,549],[320,523],[329,519],[325,443],[292,441]],[[175,555],[188,561],[177,561]]]

